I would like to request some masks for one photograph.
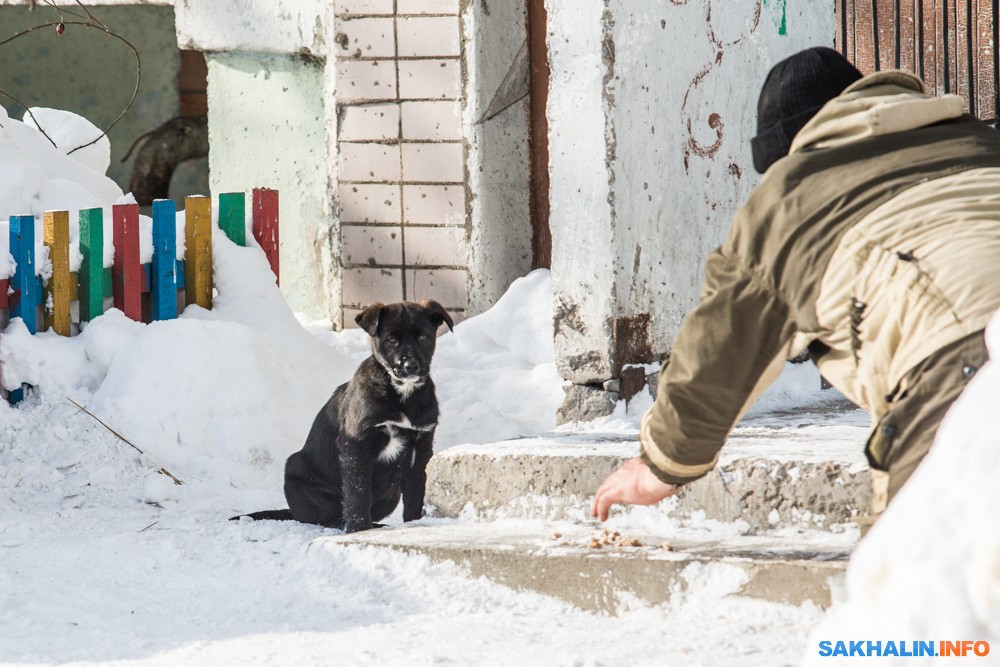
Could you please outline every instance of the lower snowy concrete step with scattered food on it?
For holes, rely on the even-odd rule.
[[[690,533],[690,531],[688,531]],[[601,532],[598,530],[597,535]],[[450,561],[473,577],[549,595],[584,610],[617,614],[636,603],[657,605],[712,581],[735,582],[731,595],[826,607],[839,598],[855,535],[826,540],[775,536],[673,536],[623,529],[620,540],[591,546],[595,528],[581,524],[424,519],[405,526],[323,538]],[[831,593],[833,591],[833,593]],[[682,601],[683,598],[677,601]]]

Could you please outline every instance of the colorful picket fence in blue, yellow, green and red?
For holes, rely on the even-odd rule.
[[[73,334],[72,308],[79,302],[78,323],[89,322],[104,312],[105,298],[115,308],[139,322],[177,317],[178,301],[184,305],[212,307],[212,200],[187,197],[184,206],[184,259],[177,259],[177,211],[172,200],[153,202],[153,257],[140,261],[139,206],[112,207],[111,234],[114,263],[104,268],[104,211],[80,211],[78,272],[70,271],[69,213],[49,211],[36,229],[34,217],[10,218],[10,254],[17,266],[11,278],[0,280],[0,309],[10,319],[20,317],[31,333],[52,329],[63,336]],[[242,192],[219,196],[219,227],[234,243],[246,245],[246,196]],[[275,278],[278,277],[278,191],[255,188],[251,201],[253,236],[264,251]],[[35,237],[41,232],[48,247],[52,275],[37,276]],[[39,322],[41,313],[41,322]],[[41,324],[41,327],[39,327]],[[22,397],[11,392],[11,402]]]

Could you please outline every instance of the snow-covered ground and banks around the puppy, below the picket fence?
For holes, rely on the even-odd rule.
[[[16,325],[3,337],[5,380],[41,389],[17,409],[0,406],[0,659],[797,661],[821,611],[730,597],[743,582],[721,565],[692,568],[690,592],[669,605],[610,617],[471,579],[422,556],[337,544],[337,531],[227,522],[240,511],[284,505],[281,462],[300,446],[304,430],[297,429],[308,428],[326,393],[367,354],[357,331],[311,324],[310,336],[267,280],[230,280],[266,277],[252,252],[220,241],[212,313],[189,310],[155,325],[113,313],[69,340],[28,336]],[[550,289],[547,274],[532,274],[495,309],[440,339],[439,447],[554,428],[562,391],[545,335]],[[799,396],[796,382],[815,394],[818,379],[804,378],[803,371],[789,376],[775,394],[779,405],[793,405],[780,392]],[[68,396],[149,454],[137,455],[78,413]],[[622,412],[602,428],[609,425],[634,430],[635,415]],[[161,465],[185,484],[157,474]]]

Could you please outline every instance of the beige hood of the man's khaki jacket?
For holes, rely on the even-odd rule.
[[[909,72],[876,72],[827,102],[795,135],[789,154],[905,132],[958,118],[964,112],[961,97],[929,97],[920,79]]]

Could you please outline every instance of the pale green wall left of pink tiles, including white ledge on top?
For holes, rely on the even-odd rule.
[[[280,191],[282,292],[339,325],[330,3],[184,0],[176,12],[181,48],[207,52],[212,192]]]

